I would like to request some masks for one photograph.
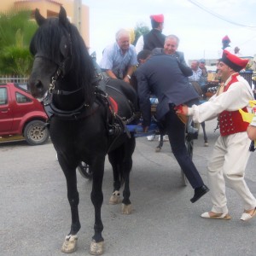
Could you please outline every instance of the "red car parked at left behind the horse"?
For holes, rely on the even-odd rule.
[[[30,145],[49,139],[44,107],[27,91],[26,84],[0,84],[0,137],[23,136]]]

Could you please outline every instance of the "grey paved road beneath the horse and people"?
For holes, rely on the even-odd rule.
[[[218,132],[215,121],[207,122],[209,147],[202,136],[195,141],[194,160],[207,183],[207,158]],[[157,142],[137,138],[131,172],[133,212],[120,214],[120,206],[108,205],[112,192],[112,172],[106,162],[103,183],[105,253],[108,256],[155,255],[255,255],[256,219],[242,223],[241,201],[227,189],[230,221],[206,220],[202,212],[210,210],[209,195],[191,204],[190,186],[183,187],[180,168],[165,143],[154,153]],[[256,153],[247,166],[247,182],[256,195]],[[70,227],[66,181],[55,150],[49,142],[32,147],[25,142],[0,144],[0,255],[63,255],[61,244]],[[79,175],[79,174],[78,174]],[[79,175],[80,220],[78,250],[73,255],[89,255],[93,235],[91,183]]]

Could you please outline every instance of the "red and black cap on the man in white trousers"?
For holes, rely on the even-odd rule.
[[[247,66],[247,63],[249,60],[241,59],[241,58],[237,57],[236,55],[232,55],[230,53],[230,51],[224,49],[222,58],[219,59],[219,61],[224,62],[226,65],[231,67],[234,71],[240,72],[241,69],[243,69]]]

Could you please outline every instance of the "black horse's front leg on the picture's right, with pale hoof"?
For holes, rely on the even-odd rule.
[[[90,193],[90,200],[93,203],[95,209],[95,224],[94,224],[94,236],[90,242],[90,254],[101,255],[103,253],[104,239],[102,237],[102,180],[104,174],[105,158],[97,159],[92,165],[92,190]]]

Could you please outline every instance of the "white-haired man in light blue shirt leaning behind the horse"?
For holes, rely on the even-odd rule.
[[[120,29],[115,38],[116,42],[104,49],[100,67],[108,77],[130,83],[134,67],[137,65],[136,50],[130,44],[130,32]]]

